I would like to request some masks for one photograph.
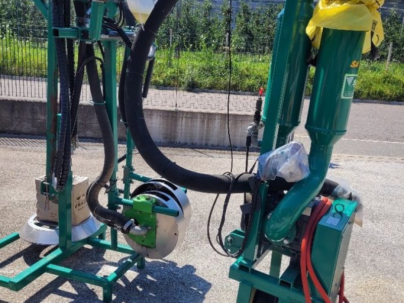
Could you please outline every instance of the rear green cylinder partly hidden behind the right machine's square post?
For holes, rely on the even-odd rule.
[[[291,52],[293,55],[289,59],[289,72],[279,119],[276,147],[286,144],[290,134],[300,124],[309,72],[307,59],[311,51],[311,41],[306,34],[306,27],[313,16],[313,10],[313,1],[308,0],[301,3],[296,20],[297,29],[293,38]]]

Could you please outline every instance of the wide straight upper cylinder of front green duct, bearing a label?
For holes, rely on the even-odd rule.
[[[345,133],[365,33],[324,29],[306,129],[313,143],[333,145]]]

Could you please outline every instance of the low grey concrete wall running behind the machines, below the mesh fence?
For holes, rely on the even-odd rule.
[[[150,134],[158,143],[229,145],[225,113],[145,109],[144,115]],[[252,117],[230,114],[229,118],[233,145],[244,146],[246,127]],[[80,137],[100,138],[92,105],[79,106],[78,126]],[[0,133],[44,135],[45,131],[45,102],[0,99]],[[121,123],[119,139],[125,139],[125,129]]]

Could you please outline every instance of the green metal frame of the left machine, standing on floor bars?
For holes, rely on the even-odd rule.
[[[48,8],[47,4],[42,0],[33,0],[35,5],[44,15],[46,20],[52,20],[52,10]],[[113,17],[116,12],[116,4],[114,2],[95,4],[100,14],[104,14],[106,9],[109,17]],[[95,15],[95,14],[92,14]],[[98,16],[99,17],[99,16]],[[102,18],[102,16],[101,16]],[[92,20],[92,19],[91,19]],[[100,28],[100,19],[94,20],[95,23],[90,23],[92,32],[92,41],[99,39],[98,29]],[[85,29],[87,30],[87,29]],[[18,291],[33,282],[43,273],[51,273],[57,276],[81,281],[84,283],[93,284],[103,288],[104,301],[112,300],[112,288],[115,282],[121,278],[126,271],[132,266],[136,265],[138,269],[142,269],[145,266],[145,261],[142,256],[137,254],[129,245],[118,243],[117,231],[115,229],[110,230],[111,241],[106,241],[107,226],[102,224],[97,232],[90,237],[72,242],[72,218],[71,218],[71,190],[72,190],[72,176],[70,172],[66,188],[57,193],[52,190],[52,186],[49,185],[49,180],[52,180],[52,167],[56,154],[56,138],[57,138],[57,116],[58,116],[58,67],[56,61],[55,52],[55,36],[66,38],[80,38],[80,29],[78,28],[58,28],[52,27],[52,22],[48,22],[48,57],[47,57],[47,103],[46,103],[46,178],[43,183],[42,189],[47,192],[50,198],[58,196],[59,200],[59,245],[58,248],[51,254],[43,257],[35,264],[18,273],[14,277],[0,276],[0,286],[9,288],[14,291]],[[88,38],[86,40],[89,40]],[[111,127],[114,135],[115,154],[118,155],[118,115],[117,115],[117,95],[116,95],[116,41],[114,40],[102,40],[105,48],[105,99],[107,112],[111,121]],[[129,55],[129,49],[126,49],[126,56]],[[116,185],[118,162],[115,159],[115,168],[113,175],[110,179],[111,188],[108,192],[108,208],[117,210],[119,205],[133,204],[130,198],[130,186],[133,180],[145,182],[150,180],[149,177],[145,177],[134,173],[132,165],[132,154],[134,143],[130,137],[129,131],[127,132],[127,159],[124,171],[128,172],[123,178],[124,194],[123,198],[119,197],[119,190]],[[117,158],[117,157],[116,157]],[[156,213],[163,213],[166,215],[175,216],[178,214],[170,212],[170,210],[160,209],[156,207],[153,209]],[[0,248],[4,248],[7,245],[20,239],[19,233],[14,232],[2,239],[0,239]],[[69,256],[73,255],[77,250],[84,245],[91,245],[92,247],[99,247],[103,249],[110,249],[124,254],[130,255],[125,262],[123,262],[115,271],[109,276],[98,276],[82,272],[76,269],[71,269],[58,265],[62,260],[65,260]]]

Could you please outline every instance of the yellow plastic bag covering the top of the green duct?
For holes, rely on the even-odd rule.
[[[377,11],[383,4],[384,0],[320,0],[306,33],[318,48],[323,28],[366,31],[362,53],[368,53],[371,41],[378,46],[384,39],[382,19]]]

